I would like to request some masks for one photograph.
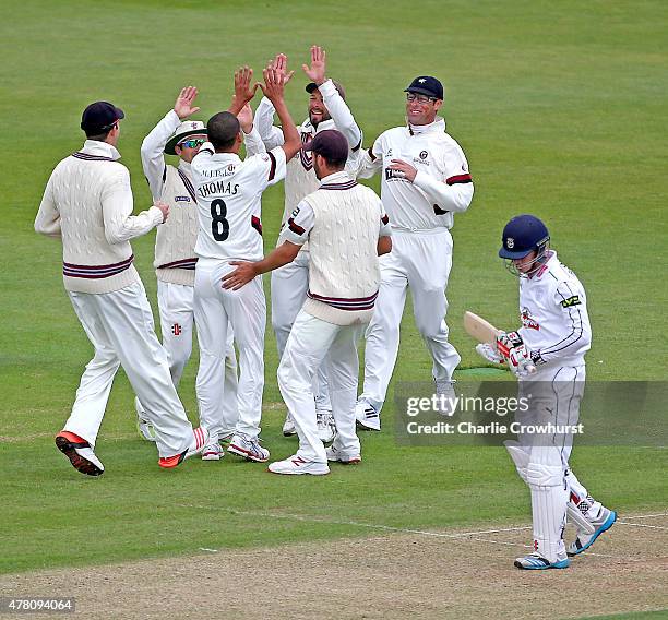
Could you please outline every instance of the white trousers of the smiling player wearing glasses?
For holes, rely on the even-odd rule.
[[[461,361],[448,342],[445,288],[452,266],[452,236],[446,228],[392,230],[392,252],[380,257],[381,284],[367,330],[361,398],[381,410],[394,372],[399,326],[410,288],[413,313],[431,358],[437,381],[451,380]]]

